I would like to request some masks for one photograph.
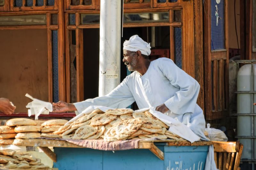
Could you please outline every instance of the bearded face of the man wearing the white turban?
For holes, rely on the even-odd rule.
[[[138,57],[136,52],[131,52],[124,49],[123,62],[129,71],[135,71],[137,69]]]

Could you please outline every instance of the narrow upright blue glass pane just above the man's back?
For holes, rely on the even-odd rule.
[[[182,34],[181,27],[174,28],[175,64],[182,69]]]

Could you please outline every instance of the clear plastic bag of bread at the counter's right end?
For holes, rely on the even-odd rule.
[[[207,128],[205,128],[204,135],[210,141],[228,141],[227,136],[220,129],[210,128],[210,123],[207,123]]]

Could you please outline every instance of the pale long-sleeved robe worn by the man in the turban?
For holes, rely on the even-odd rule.
[[[200,85],[168,58],[150,63],[147,72],[140,76],[134,71],[106,96],[74,103],[81,113],[85,108],[106,106],[126,108],[136,101],[139,108],[157,107],[165,104],[165,114],[187,125],[202,139],[205,120],[203,110],[196,104]]]

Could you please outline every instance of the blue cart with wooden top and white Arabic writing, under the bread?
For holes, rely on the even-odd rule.
[[[16,139],[15,139],[16,140]],[[138,149],[101,151],[61,140],[19,139],[16,145],[39,146],[59,170],[204,170],[211,142],[139,141]],[[54,153],[48,148],[54,147]]]

